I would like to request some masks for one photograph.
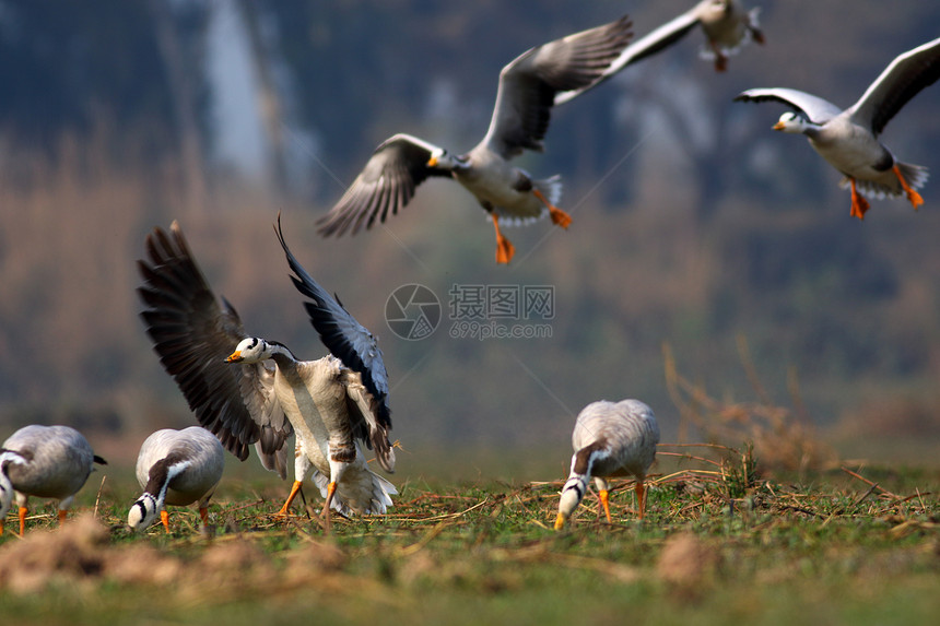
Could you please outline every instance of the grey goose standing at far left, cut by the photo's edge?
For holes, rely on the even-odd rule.
[[[74,428],[34,424],[13,433],[0,446],[0,534],[14,493],[21,536],[26,530],[30,496],[59,500],[59,523],[66,521],[66,511],[94,463],[107,464]]]

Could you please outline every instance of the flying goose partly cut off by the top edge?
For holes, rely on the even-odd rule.
[[[764,43],[764,34],[757,24],[759,12],[760,9],[745,11],[735,0],[702,0],[685,13],[627,46],[592,84],[559,93],[555,96],[555,105],[566,103],[615,75],[625,67],[665,50],[697,25],[702,26],[706,39],[700,56],[707,60],[714,59],[715,70],[724,72],[728,69],[728,55],[737,52],[751,39],[759,44]]]

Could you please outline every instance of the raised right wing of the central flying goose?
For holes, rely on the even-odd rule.
[[[542,150],[555,94],[597,81],[633,36],[631,22],[581,31],[524,52],[500,72],[490,130],[482,141],[504,158]]]

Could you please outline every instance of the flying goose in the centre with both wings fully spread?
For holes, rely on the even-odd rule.
[[[623,19],[538,46],[500,73],[496,105],[486,137],[463,155],[412,137],[384,141],[332,210],[318,224],[322,236],[355,234],[397,214],[431,176],[454,178],[470,191],[493,220],[496,262],[508,263],[515,248],[500,223],[526,223],[545,215],[567,228],[571,217],[556,208],[557,176],[534,179],[509,165],[524,150],[542,151],[552,101],[557,92],[595,82],[630,42]]]

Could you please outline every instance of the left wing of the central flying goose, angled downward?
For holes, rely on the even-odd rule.
[[[376,220],[385,222],[389,213],[398,214],[428,176],[450,176],[427,167],[434,150],[439,149],[409,134],[384,141],[336,206],[317,221],[317,232],[324,237],[355,235],[363,226],[372,228]]]

